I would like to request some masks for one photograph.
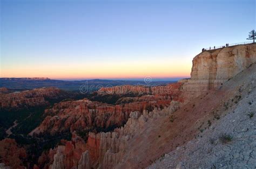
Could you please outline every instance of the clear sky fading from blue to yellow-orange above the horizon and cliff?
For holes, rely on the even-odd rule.
[[[203,47],[247,41],[255,1],[0,0],[1,78],[190,77]]]

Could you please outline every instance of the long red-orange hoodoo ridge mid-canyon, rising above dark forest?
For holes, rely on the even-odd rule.
[[[108,129],[122,126],[132,111],[167,107],[172,100],[179,100],[178,94],[172,96],[145,95],[133,97],[133,101],[118,105],[92,102],[87,99],[60,102],[45,110],[45,119],[33,133],[49,132],[54,135],[63,131],[85,131],[96,128]],[[125,98],[123,98],[123,101]],[[125,102],[125,101],[124,101]]]

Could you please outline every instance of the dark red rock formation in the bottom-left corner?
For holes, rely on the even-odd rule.
[[[25,158],[25,149],[18,147],[15,139],[5,138],[0,141],[0,163],[11,168],[25,168],[23,165]]]

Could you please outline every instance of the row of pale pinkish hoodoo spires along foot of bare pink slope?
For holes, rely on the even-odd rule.
[[[114,130],[114,132],[90,133],[87,140],[89,156],[87,159],[94,168],[113,168],[123,158],[125,149],[134,135],[142,132],[141,129],[146,123],[157,119],[160,116],[172,114],[179,108],[179,102],[173,101],[170,107],[151,112],[144,111],[143,114],[134,111],[124,127]]]

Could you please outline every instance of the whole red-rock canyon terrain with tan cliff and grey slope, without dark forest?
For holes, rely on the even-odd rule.
[[[256,44],[237,45],[198,54],[190,79],[163,86],[104,87],[93,94],[117,95],[114,104],[89,98],[58,101],[44,109],[43,121],[29,135],[69,132],[72,138],[44,150],[32,167],[255,167],[255,75]],[[44,88],[22,92],[35,98],[31,99],[31,94],[3,94],[1,107],[45,104],[46,93],[55,97],[60,91]],[[250,112],[252,117],[247,115]],[[219,137],[224,133],[234,140],[221,143]],[[9,160],[6,150],[0,149],[0,163],[24,167],[25,149],[10,138],[3,139],[0,147],[2,144],[18,151],[11,151],[15,155]],[[238,145],[246,152],[235,148]]]

